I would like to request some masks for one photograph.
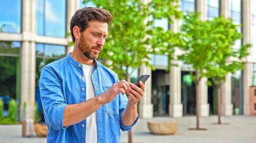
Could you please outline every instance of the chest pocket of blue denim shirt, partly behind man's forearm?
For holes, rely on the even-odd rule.
[[[110,87],[103,87],[104,92],[109,88]],[[118,97],[116,96],[110,103],[105,104],[105,107],[108,114],[118,116]]]

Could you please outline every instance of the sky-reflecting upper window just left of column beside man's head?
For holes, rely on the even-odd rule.
[[[37,1],[36,32],[38,35],[66,37],[66,1]]]

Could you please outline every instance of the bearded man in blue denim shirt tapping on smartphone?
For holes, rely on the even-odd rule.
[[[76,11],[70,21],[73,52],[43,68],[40,92],[47,142],[120,142],[120,129],[128,131],[137,122],[144,84],[140,81],[139,88],[119,81],[96,61],[111,19],[100,8]]]

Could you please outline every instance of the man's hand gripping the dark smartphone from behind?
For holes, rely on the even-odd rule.
[[[126,94],[129,96],[127,105],[137,105],[137,103],[142,98],[145,92],[145,84],[142,81],[140,81],[139,82],[140,87],[138,87],[131,82],[128,82],[128,83],[130,87],[126,91]]]

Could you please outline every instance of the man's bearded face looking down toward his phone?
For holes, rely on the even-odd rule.
[[[87,58],[95,60],[99,56],[107,35],[107,23],[90,21],[89,26],[81,33],[81,37],[78,39],[78,48]]]

